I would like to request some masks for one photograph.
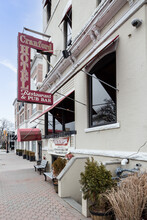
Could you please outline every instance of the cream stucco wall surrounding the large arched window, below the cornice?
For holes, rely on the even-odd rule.
[[[105,149],[120,151],[137,151],[147,140],[147,102],[145,100],[147,66],[146,66],[146,7],[135,15],[113,34],[119,35],[116,50],[117,63],[117,129],[85,133],[88,127],[87,107],[75,104],[77,148]],[[143,20],[138,29],[131,25],[133,18]],[[114,18],[115,19],[115,18]],[[129,37],[129,35],[131,35]],[[87,103],[86,77],[80,72],[76,76],[76,98]],[[84,118],[81,122],[81,118]],[[146,152],[146,148],[143,151]]]

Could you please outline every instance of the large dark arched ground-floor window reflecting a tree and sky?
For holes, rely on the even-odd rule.
[[[102,82],[103,81],[103,82]],[[107,83],[107,85],[105,83]],[[89,126],[116,122],[116,53],[109,53],[90,70]],[[113,86],[114,88],[112,88]]]

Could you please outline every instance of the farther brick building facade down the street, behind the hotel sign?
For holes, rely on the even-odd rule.
[[[31,57],[31,88],[32,90],[38,90],[42,84],[42,56],[32,51]],[[42,112],[42,105],[18,102],[17,99],[15,99],[13,105],[15,112],[15,134],[17,135],[15,148],[35,152],[35,158],[39,160],[42,158],[42,142],[35,138],[34,131],[36,127],[30,126],[29,122]],[[43,125],[39,123],[37,128],[38,132],[41,132]],[[23,139],[24,137],[25,139]]]

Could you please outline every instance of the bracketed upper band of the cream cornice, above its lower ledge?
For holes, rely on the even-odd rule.
[[[126,2],[127,0],[113,0],[110,3],[110,0],[105,0],[96,8],[87,25],[82,29],[81,33],[77,35],[74,42],[69,47],[73,57],[78,57],[88,44],[91,42],[95,43],[96,40],[100,39],[100,29],[102,29],[107,22],[117,14]],[[92,30],[91,36],[89,35],[89,30]],[[62,74],[71,63],[73,64],[71,59],[63,59],[63,56],[61,56],[51,70],[47,82],[54,82],[57,71],[60,71]],[[74,67],[77,67],[76,62],[74,62]],[[43,85],[45,84],[46,81],[43,82]],[[44,91],[43,85],[42,88],[40,88],[40,91]]]

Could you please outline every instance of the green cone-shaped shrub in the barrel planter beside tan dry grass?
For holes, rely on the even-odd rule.
[[[95,207],[104,206],[102,194],[115,186],[111,172],[103,164],[98,164],[94,159],[87,159],[85,171],[81,174],[83,198],[89,199]]]

